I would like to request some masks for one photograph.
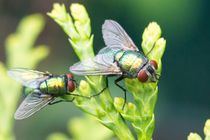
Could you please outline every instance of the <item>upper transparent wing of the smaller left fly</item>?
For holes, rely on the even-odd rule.
[[[30,88],[38,88],[42,81],[51,76],[49,73],[29,69],[11,69],[8,71],[8,75]]]

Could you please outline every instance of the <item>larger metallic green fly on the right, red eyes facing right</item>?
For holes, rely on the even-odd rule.
[[[106,20],[102,33],[106,47],[94,58],[71,66],[69,69],[73,74],[120,76],[115,80],[115,84],[124,91],[125,102],[126,89],[118,84],[119,81],[124,78],[138,78],[141,82],[155,82],[159,79],[156,72],[157,62],[149,60],[140,52],[117,22]]]

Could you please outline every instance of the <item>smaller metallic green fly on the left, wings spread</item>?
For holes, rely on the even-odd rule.
[[[28,69],[12,69],[8,75],[25,87],[26,98],[22,101],[15,112],[15,119],[22,120],[30,117],[48,104],[55,104],[67,100],[67,95],[81,96],[73,94],[76,82],[72,74],[55,76],[48,72],[40,72]],[[61,97],[62,100],[55,100]],[[82,96],[85,97],[85,96]],[[88,97],[87,97],[88,98]]]

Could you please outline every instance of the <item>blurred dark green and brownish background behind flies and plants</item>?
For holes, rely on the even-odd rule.
[[[200,134],[210,118],[210,2],[208,0],[0,0],[0,61],[5,60],[4,40],[14,32],[21,18],[33,13],[45,15],[46,27],[37,44],[50,46],[50,55],[38,70],[56,74],[68,72],[78,61],[67,36],[46,12],[54,2],[66,7],[84,4],[91,18],[95,52],[104,46],[101,25],[105,19],[118,21],[136,45],[144,28],[156,21],[167,40],[163,72],[156,106],[154,139],[186,139],[191,131]],[[80,79],[80,77],[76,77]],[[111,78],[110,83],[113,82]],[[110,84],[112,86],[114,84]],[[121,96],[115,86],[113,96]],[[8,93],[9,94],[9,93]],[[69,117],[82,114],[71,103],[48,106],[33,117],[16,121],[17,140],[45,139],[50,133],[66,133]]]

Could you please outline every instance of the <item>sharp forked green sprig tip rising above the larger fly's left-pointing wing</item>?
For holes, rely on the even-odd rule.
[[[53,10],[47,14],[69,36],[69,42],[80,60],[93,57],[93,35],[91,35],[90,19],[87,11],[80,4],[72,4],[70,11],[72,17],[63,4],[56,3],[53,5]]]

